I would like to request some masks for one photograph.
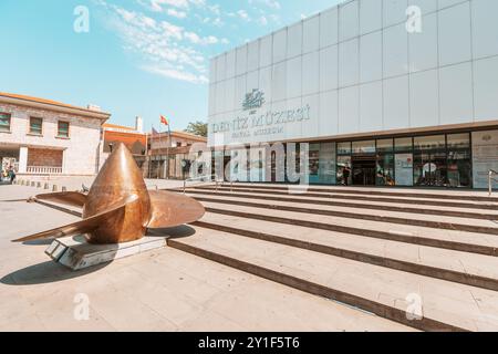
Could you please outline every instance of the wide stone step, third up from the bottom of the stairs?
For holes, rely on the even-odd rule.
[[[457,230],[432,229],[369,220],[330,217],[286,210],[272,210],[221,202],[204,202],[208,212],[243,217],[252,220],[329,230],[375,239],[444,248],[456,251],[498,256],[498,237]]]

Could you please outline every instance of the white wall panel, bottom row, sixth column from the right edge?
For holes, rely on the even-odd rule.
[[[360,90],[339,90],[339,134],[356,133],[360,127]]]

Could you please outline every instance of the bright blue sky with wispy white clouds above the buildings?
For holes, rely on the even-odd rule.
[[[173,129],[207,119],[209,59],[339,0],[0,0],[0,91]],[[89,9],[76,33],[74,9]]]

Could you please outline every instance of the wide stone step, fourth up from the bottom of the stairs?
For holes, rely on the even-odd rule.
[[[194,195],[191,195],[194,197]],[[255,207],[262,209],[286,210],[302,214],[323,215],[331,217],[370,220],[396,225],[411,225],[434,229],[460,230],[476,233],[498,235],[498,223],[494,220],[478,220],[455,218],[446,216],[414,215],[409,212],[395,212],[364,208],[346,208],[338,206],[317,206],[313,204],[294,204],[288,201],[250,200],[237,197],[221,197],[214,195],[195,195],[201,202],[230,204],[234,206]]]

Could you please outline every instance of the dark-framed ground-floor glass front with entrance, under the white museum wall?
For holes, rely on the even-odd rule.
[[[471,166],[470,133],[310,144],[311,184],[471,188]]]

